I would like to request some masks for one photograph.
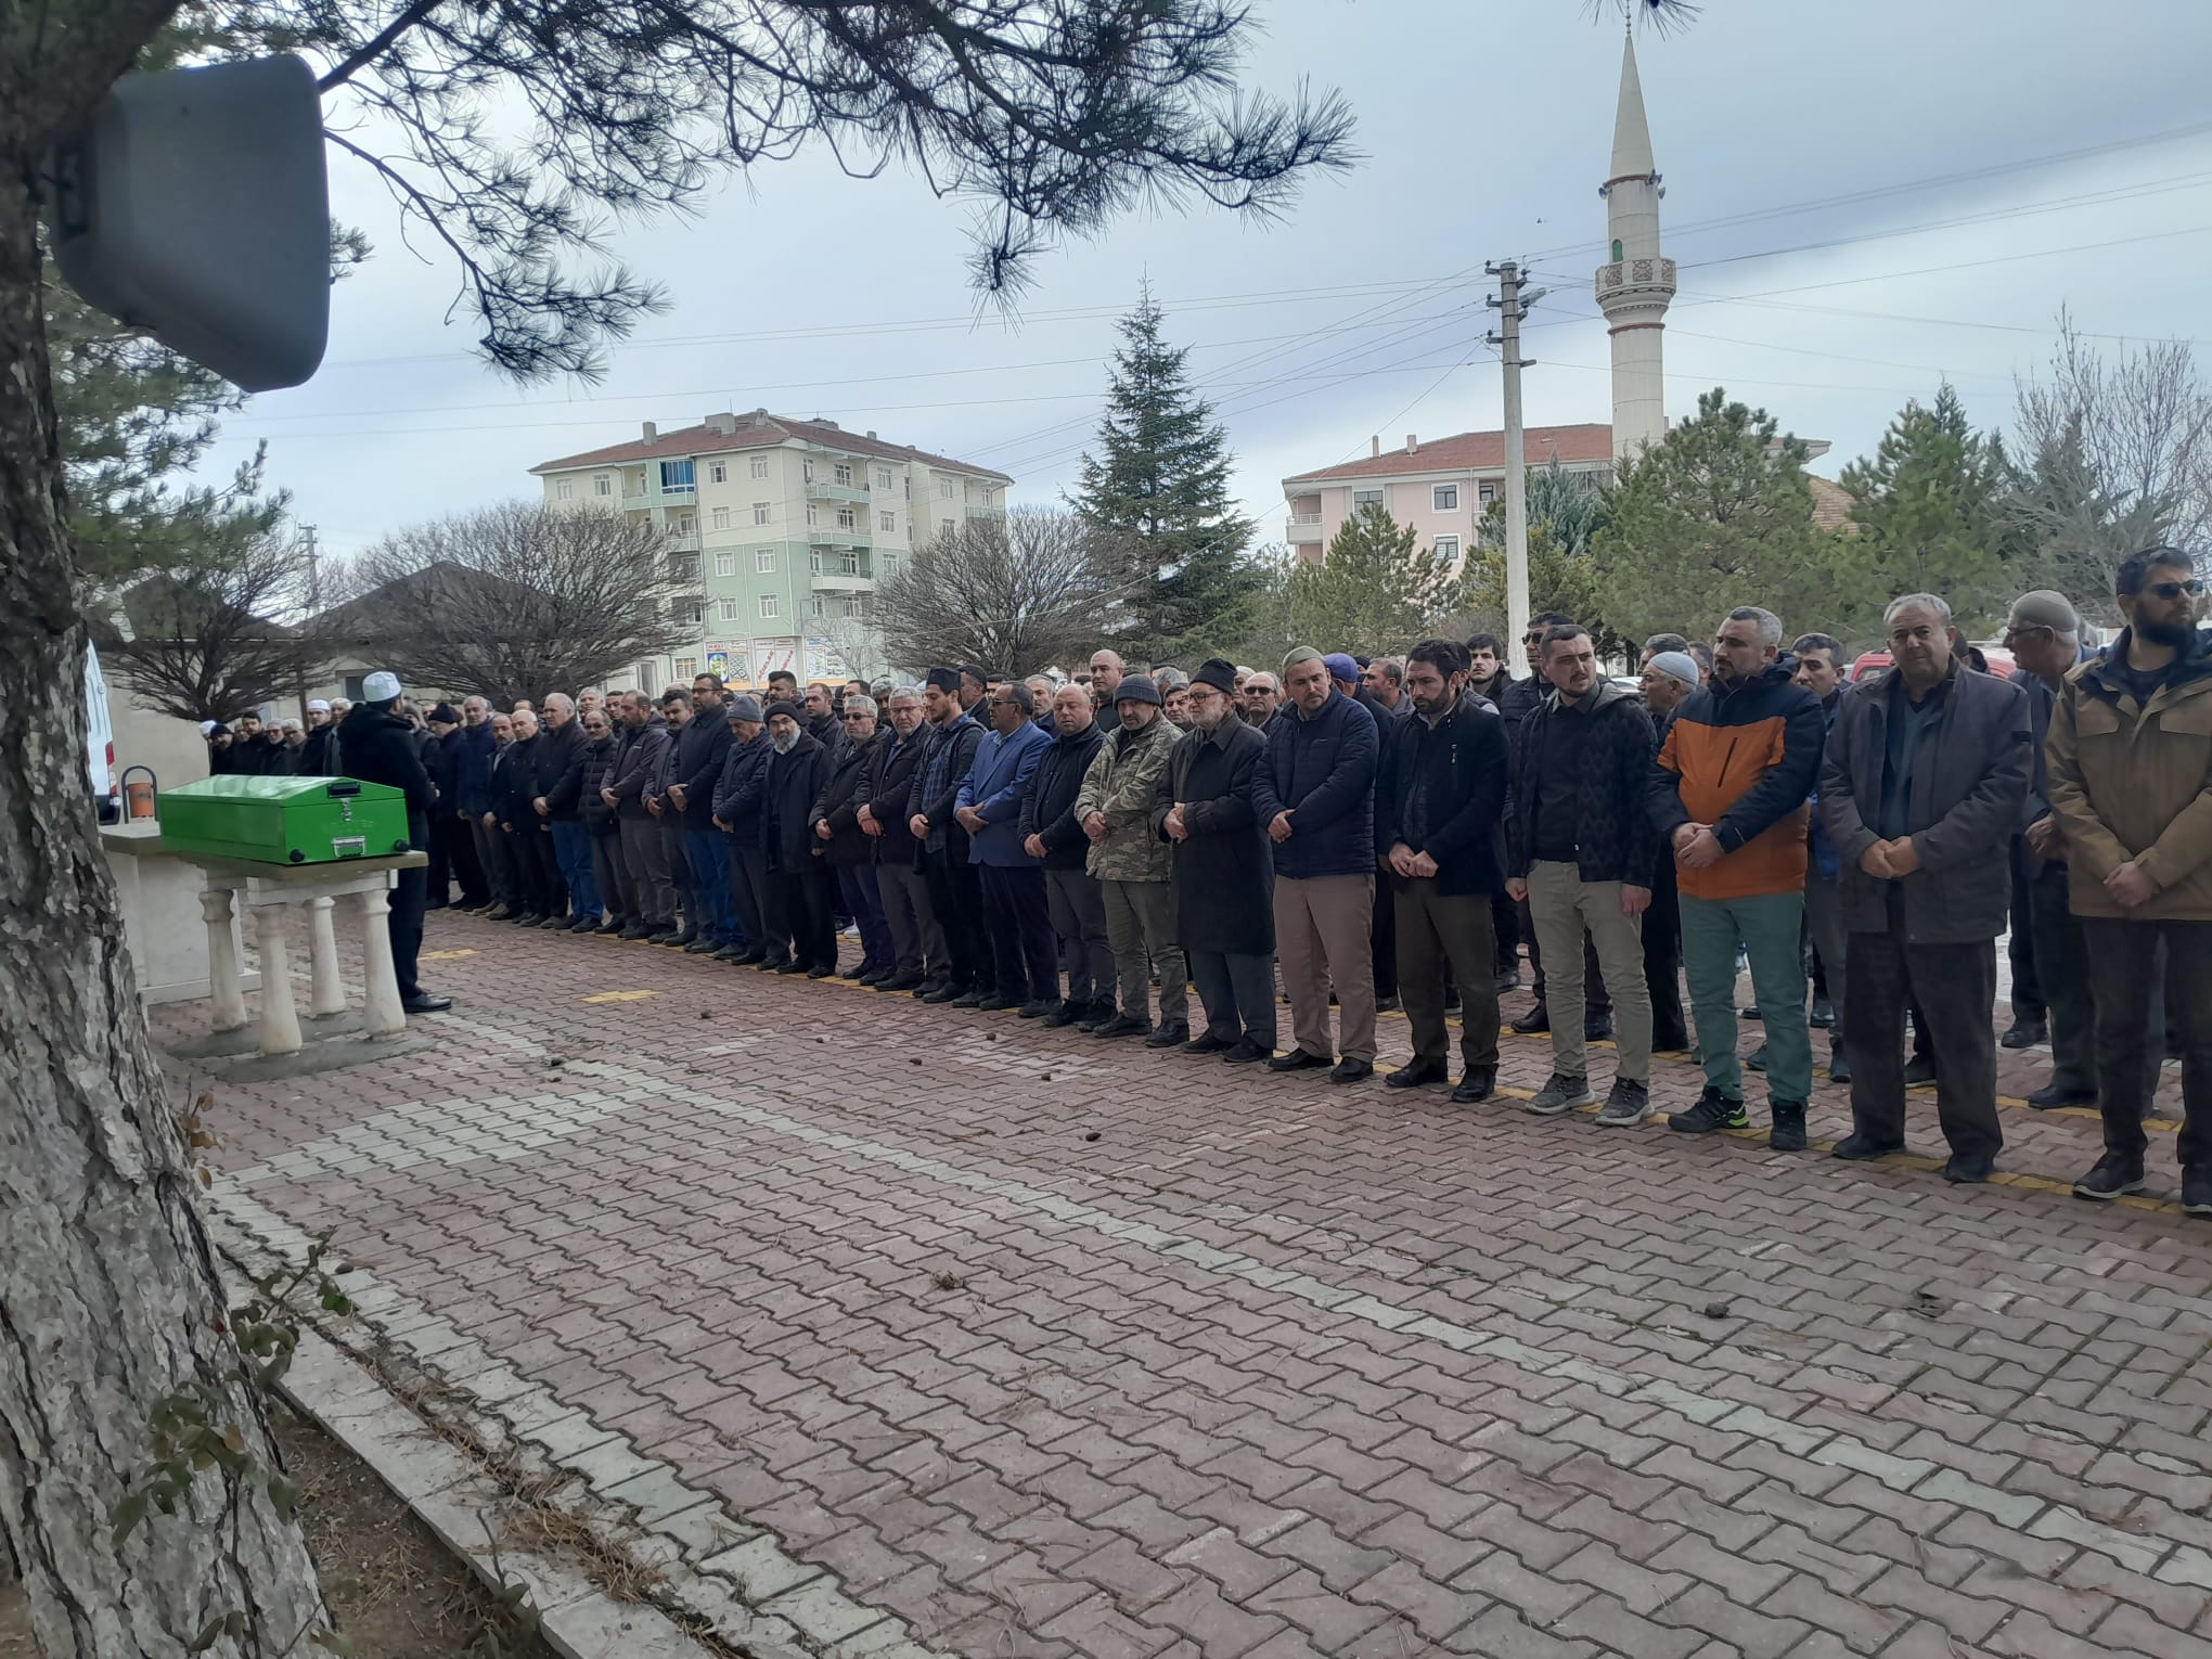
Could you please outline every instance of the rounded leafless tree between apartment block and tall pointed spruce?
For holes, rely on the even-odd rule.
[[[980,664],[1029,675],[1091,653],[1144,591],[1106,533],[1053,507],[947,529],[876,588],[883,648],[902,668]]]

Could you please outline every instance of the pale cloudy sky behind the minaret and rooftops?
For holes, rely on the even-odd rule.
[[[447,319],[453,272],[409,252],[334,157],[336,212],[374,261],[334,294],[321,374],[234,416],[323,546],[533,493],[526,469],[765,405],[1013,473],[1055,500],[1102,407],[1113,319],[1150,279],[1281,535],[1281,478],[1500,425],[1486,259],[1548,294],[1524,336],[1528,420],[1608,420],[1590,301],[1619,27],[1582,0],[1259,0],[1248,84],[1338,86],[1365,161],[1272,226],[1135,217],[1037,268],[1018,316],[975,319],[969,210],[827,155],[761,168],[615,252],[672,301],[597,387],[518,392]],[[1705,0],[1641,35],[1666,250],[1668,414],[1712,385],[1827,438],[1834,473],[1949,376],[1984,425],[2044,361],[2059,307],[2106,345],[2212,336],[2212,7],[2201,0]],[[425,239],[416,237],[418,246]],[[465,319],[462,319],[465,323]],[[2212,338],[2199,341],[2212,352]]]

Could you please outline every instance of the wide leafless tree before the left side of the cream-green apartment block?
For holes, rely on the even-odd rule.
[[[699,555],[613,511],[502,502],[356,557],[319,633],[403,681],[495,703],[619,675],[699,639]]]

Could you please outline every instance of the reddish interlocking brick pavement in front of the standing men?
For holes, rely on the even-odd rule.
[[[796,1562],[841,1628],[1020,1659],[2212,1655],[2170,1126],[2095,1208],[2095,1121],[2017,1104],[2008,1183],[1953,1190],[1767,1152],[1756,1106],[1604,1133],[641,945],[429,949],[438,1048],[226,1086],[219,1201],[334,1225],[617,1473],[761,1528],[752,1595]],[[1504,1082],[1546,1060],[1509,1037]]]

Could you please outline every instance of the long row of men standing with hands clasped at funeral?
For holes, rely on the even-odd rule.
[[[1387,1084],[1455,1102],[1495,1093],[1524,942],[1537,1004],[1515,1029],[1551,1037],[1526,1110],[1641,1124],[1655,1046],[1690,1048],[1703,1093],[1668,1126],[1743,1130],[1736,1020],[1759,1018],[1767,1144],[1803,1150],[1825,1024],[1854,1113],[1834,1155],[1902,1148],[1907,1088],[1931,1079],[1951,1181],[1986,1181],[2004,1139],[2011,920],[2048,1006],[2031,1104],[2104,1115],[2075,1192],[2143,1188],[2172,1042],[2183,1206],[2212,1217],[2212,635],[2185,553],[2128,560],[2117,602],[2128,628],[2093,653],[2062,595],[2022,595],[2011,677],[1916,593],[1885,617],[1893,668],[1860,681],[1834,637],[1785,648],[1778,617],[1739,606],[1710,648],[1650,639],[1641,695],[1544,615],[1526,679],[1478,635],[1367,664],[1298,648],[1279,679],[1099,650],[1057,686],[947,666],[918,686],[783,675],[765,701],[712,675],[542,710],[471,697],[420,739],[429,902],[1336,1084],[1376,1075],[1396,998],[1413,1060]],[[347,737],[405,726],[376,679],[392,697]]]

